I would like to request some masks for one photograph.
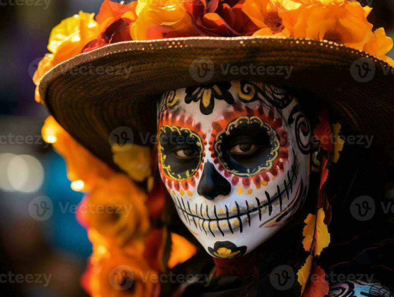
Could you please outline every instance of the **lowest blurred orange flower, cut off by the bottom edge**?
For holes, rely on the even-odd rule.
[[[158,274],[138,256],[126,256],[119,250],[109,258],[93,261],[88,273],[91,296],[158,296]]]

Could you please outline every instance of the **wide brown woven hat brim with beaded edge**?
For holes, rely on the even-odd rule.
[[[366,52],[331,41],[258,36],[114,43],[56,65],[42,77],[39,93],[48,112],[71,136],[116,168],[108,140],[111,131],[126,126],[143,138],[156,134],[154,98],[203,84],[204,79],[191,74],[196,59],[208,61],[208,68],[213,64],[206,83],[260,80],[306,90],[340,114],[355,133],[380,139],[393,135],[394,70]],[[240,69],[251,64],[292,71],[288,77],[268,71],[265,75],[223,71],[227,65]],[[365,66],[372,69],[372,77],[363,78],[364,73],[357,77]]]

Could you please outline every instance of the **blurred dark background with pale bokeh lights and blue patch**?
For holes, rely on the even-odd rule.
[[[97,13],[101,2],[0,0],[0,275],[7,275],[0,277],[1,296],[84,296],[80,276],[91,245],[69,211],[82,193],[71,189],[63,159],[41,138],[48,115],[34,101],[32,75],[48,52],[51,28],[79,10]],[[374,8],[375,28],[394,37],[392,0],[360,2]],[[32,215],[39,196],[53,204],[42,221]],[[28,283],[15,281],[17,274],[52,276],[45,286],[43,276]]]

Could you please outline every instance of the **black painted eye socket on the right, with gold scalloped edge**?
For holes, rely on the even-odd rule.
[[[253,176],[272,167],[279,138],[256,116],[241,116],[217,133],[214,150],[219,163],[236,176]]]

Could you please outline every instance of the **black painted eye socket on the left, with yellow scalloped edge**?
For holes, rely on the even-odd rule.
[[[203,158],[200,136],[185,127],[165,125],[159,131],[160,162],[164,172],[182,181],[193,176]]]

